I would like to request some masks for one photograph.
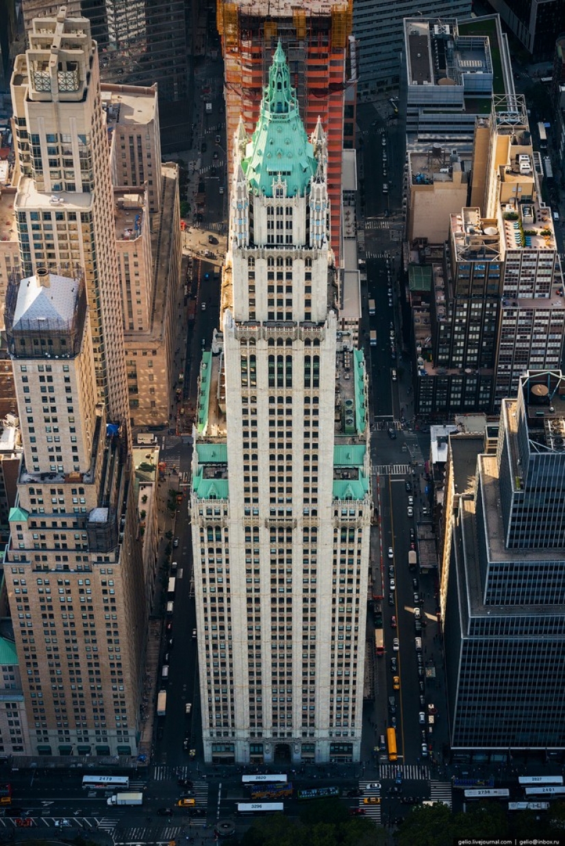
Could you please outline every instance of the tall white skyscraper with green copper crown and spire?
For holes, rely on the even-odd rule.
[[[279,41],[233,139],[222,335],[191,519],[207,761],[359,759],[371,505],[363,353],[338,332],[327,139]]]

